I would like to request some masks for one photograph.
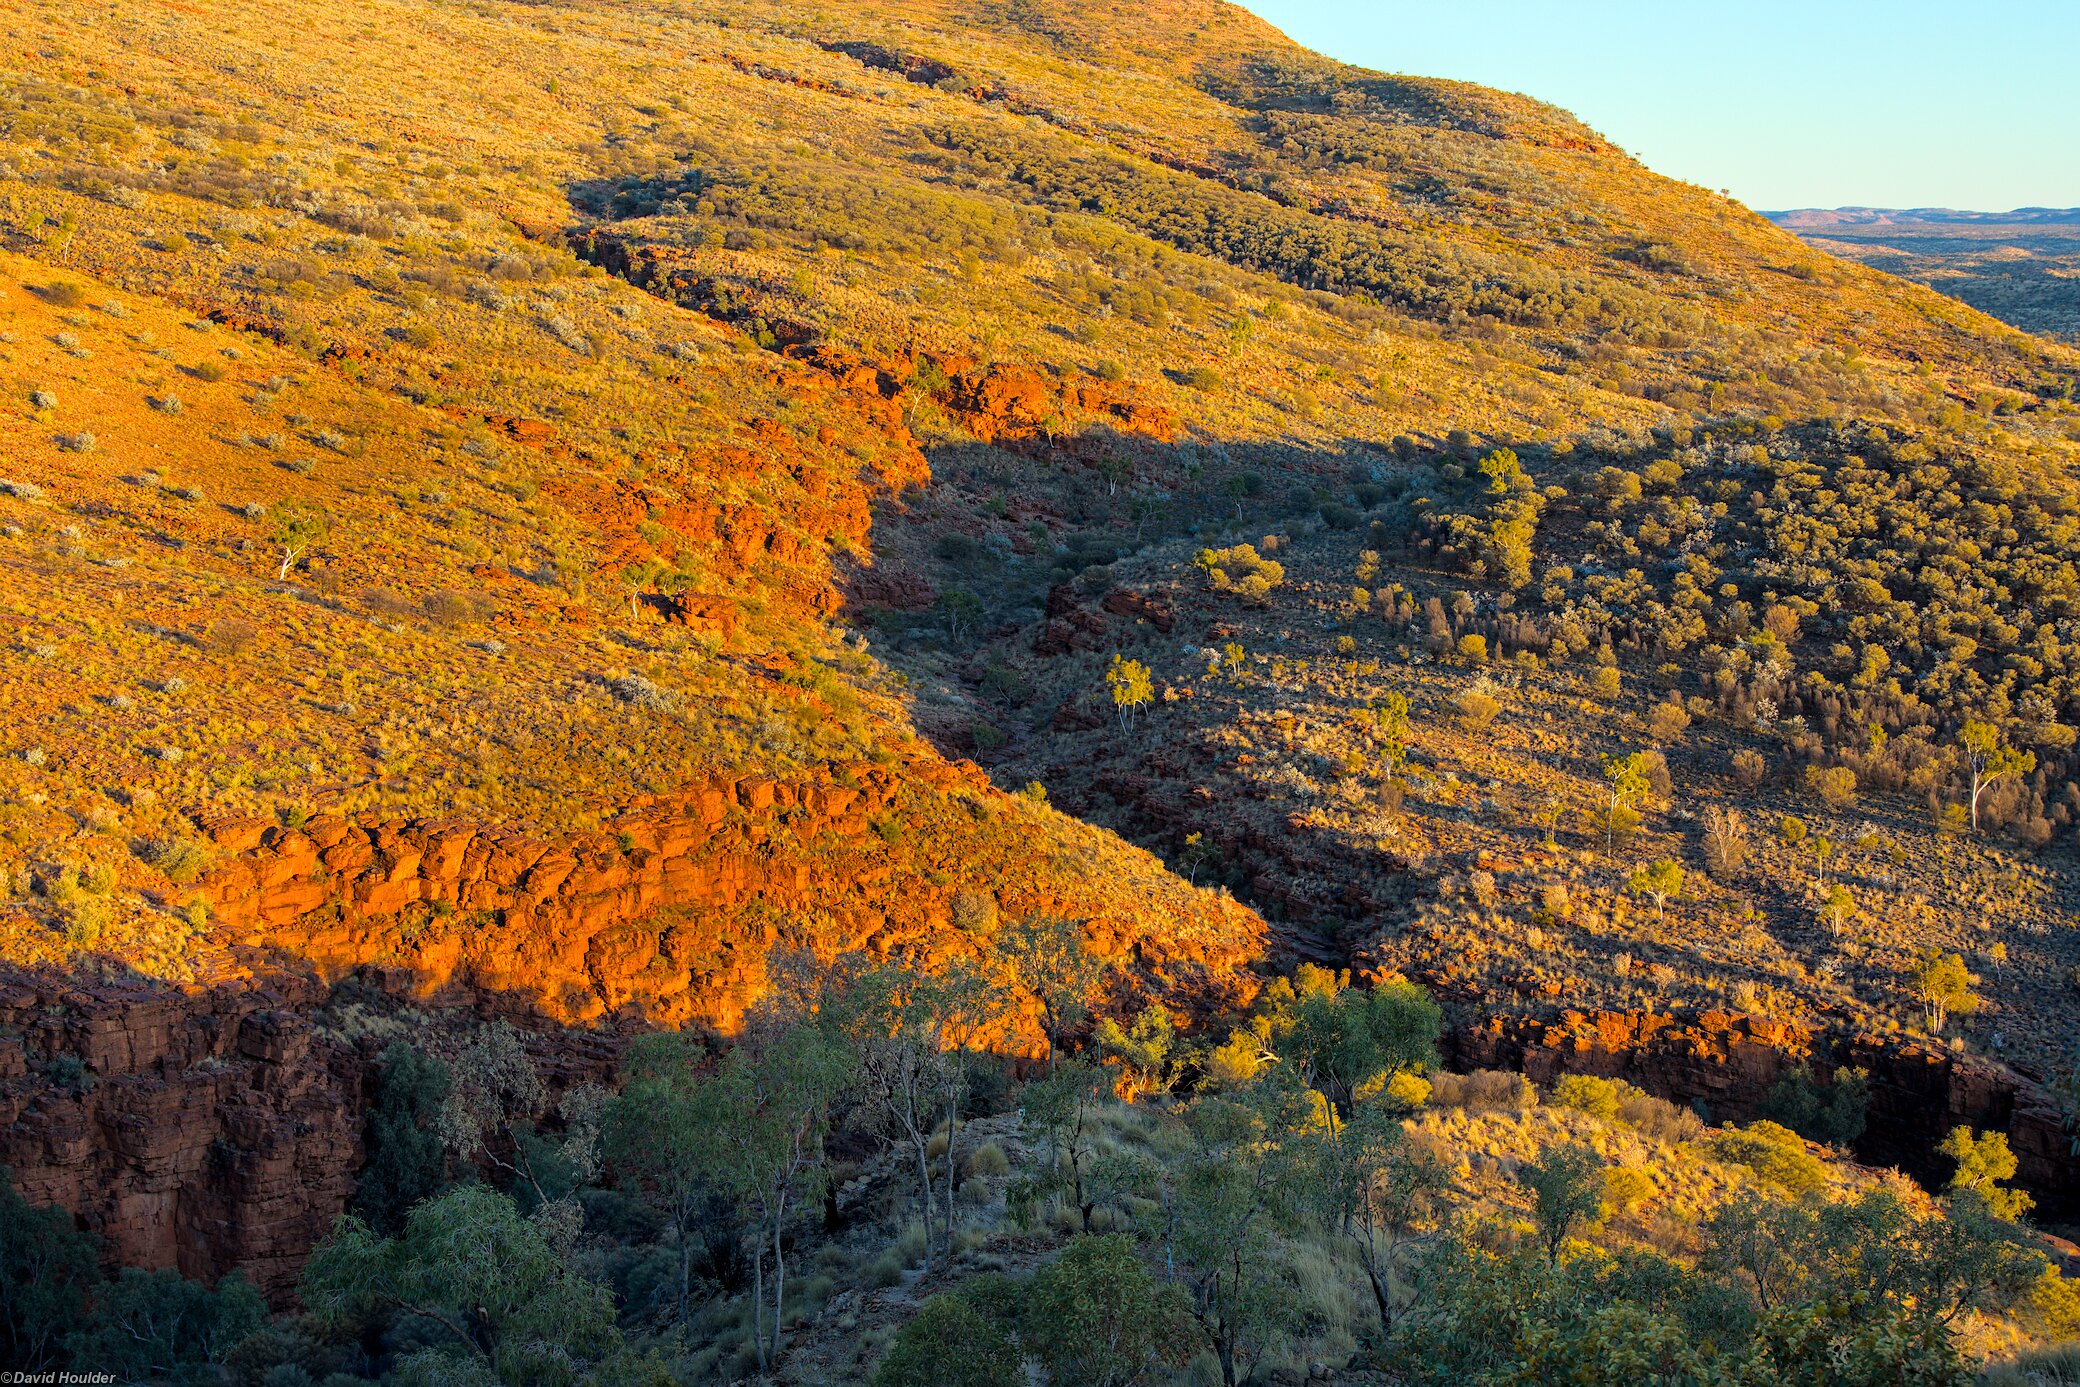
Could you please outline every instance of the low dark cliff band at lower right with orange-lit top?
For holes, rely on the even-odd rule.
[[[1924,1181],[1949,1169],[1934,1146],[1957,1125],[2003,1131],[2016,1152],[2016,1183],[2045,1219],[2080,1212],[2080,1158],[2059,1104],[2016,1071],[1972,1054],[1872,1033],[1822,1029],[1706,1011],[1562,1011],[1539,1019],[1487,1015],[1450,1036],[1458,1069],[1518,1069],[1539,1083],[1564,1073],[1627,1079],[1674,1102],[1701,1102],[1716,1121],[1745,1121],[1787,1069],[1870,1073],[1870,1127],[1857,1154]]]

